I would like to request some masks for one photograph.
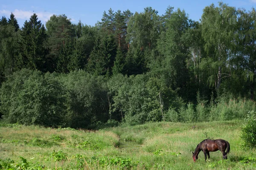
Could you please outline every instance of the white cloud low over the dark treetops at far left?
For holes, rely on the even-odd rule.
[[[36,13],[38,16],[38,19],[43,22],[49,20],[50,17],[53,15],[50,12],[23,11],[23,10],[18,10],[18,9],[15,9],[14,11],[12,11],[12,13],[15,15],[16,19],[23,19],[23,20],[29,20],[31,15]],[[11,14],[11,11],[7,11],[5,9],[0,10],[0,14],[5,14],[6,17],[9,17],[9,15]]]

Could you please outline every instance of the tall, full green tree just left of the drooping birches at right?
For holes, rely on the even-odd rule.
[[[161,56],[159,68],[155,68],[158,76],[165,80],[172,89],[183,88],[188,81],[186,59],[189,47],[186,46],[184,34],[188,29],[188,17],[180,8],[166,18],[165,30],[161,33],[157,49]],[[182,93],[182,91],[180,91]]]

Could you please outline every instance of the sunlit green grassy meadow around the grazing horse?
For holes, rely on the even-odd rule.
[[[147,123],[99,131],[52,129],[38,126],[0,127],[2,169],[256,169],[256,150],[244,150],[243,121]],[[204,161],[191,151],[206,138],[230,143],[227,160],[220,151]]]

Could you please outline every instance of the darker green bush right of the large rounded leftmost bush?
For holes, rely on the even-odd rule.
[[[104,77],[79,70],[62,76],[61,82],[67,96],[65,126],[95,129],[97,122],[108,121],[108,91]]]

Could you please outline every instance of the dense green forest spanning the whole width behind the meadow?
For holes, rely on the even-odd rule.
[[[256,11],[220,2],[200,21],[168,6],[95,26],[0,19],[1,121],[96,129],[242,119],[255,111]]]

